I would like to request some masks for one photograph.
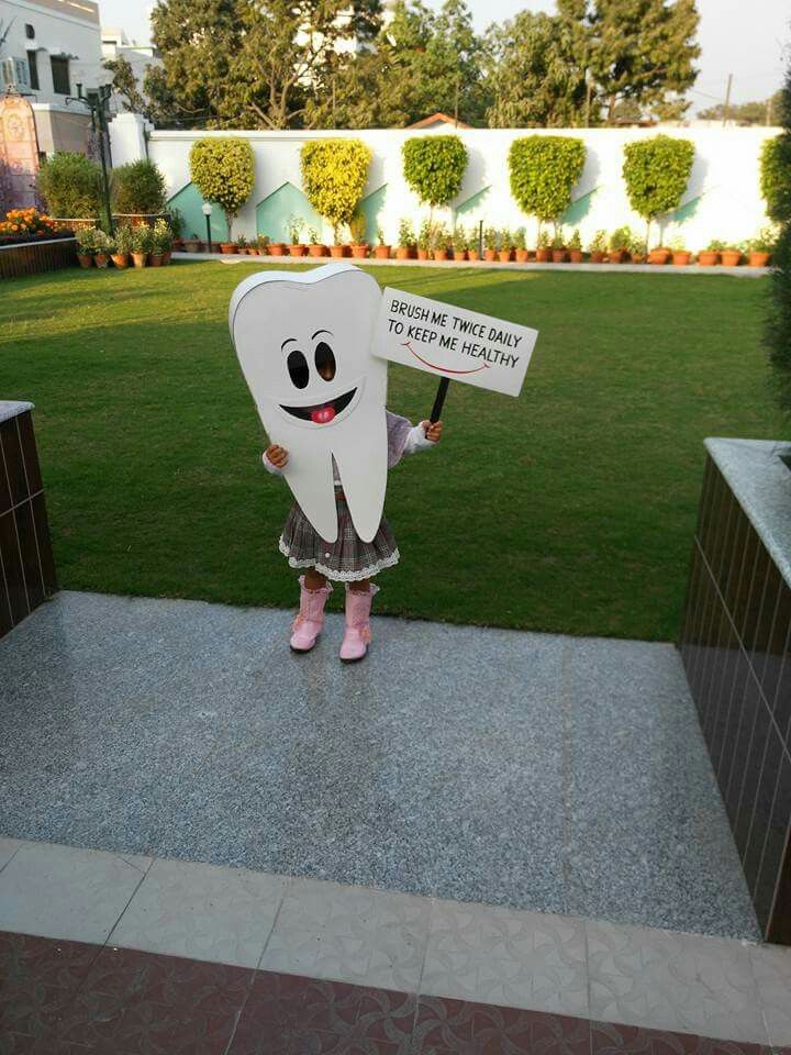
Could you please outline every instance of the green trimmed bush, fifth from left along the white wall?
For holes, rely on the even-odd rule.
[[[646,221],[646,244],[657,216],[678,209],[694,163],[694,144],[655,135],[624,146],[623,178],[630,204]]]

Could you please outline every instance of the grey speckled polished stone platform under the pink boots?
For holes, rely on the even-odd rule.
[[[0,642],[0,835],[756,937],[671,645],[63,592]]]

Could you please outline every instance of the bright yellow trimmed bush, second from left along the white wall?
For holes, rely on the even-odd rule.
[[[314,140],[302,146],[300,160],[308,201],[332,224],[338,245],[363,197],[371,152],[361,140]]]

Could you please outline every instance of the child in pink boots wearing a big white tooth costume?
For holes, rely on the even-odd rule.
[[[435,446],[442,422],[411,422],[386,409],[387,364],[371,342],[379,285],[349,264],[261,271],[229,307],[242,371],[269,436],[264,465],[294,496],[280,549],[300,576],[291,647],[309,652],[324,622],[328,580],[346,586],[341,659],[370,642],[370,580],[398,563],[383,519],[388,470]]]

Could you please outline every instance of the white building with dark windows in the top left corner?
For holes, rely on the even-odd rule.
[[[77,95],[109,80],[93,0],[0,0],[0,90],[29,95],[38,151],[86,151],[90,114]]]

